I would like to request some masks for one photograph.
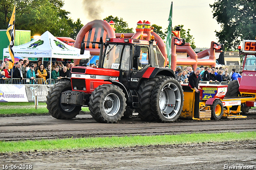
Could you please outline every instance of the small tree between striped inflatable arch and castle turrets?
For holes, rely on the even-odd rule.
[[[103,20],[106,20],[107,22],[110,22],[111,20],[115,23],[116,33],[132,33],[132,28],[128,28],[128,23],[124,22],[123,18],[108,16],[104,18]]]

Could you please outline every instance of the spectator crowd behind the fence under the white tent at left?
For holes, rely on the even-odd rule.
[[[57,82],[62,77],[71,77],[73,66],[74,63],[66,63],[64,66],[62,62],[55,61],[54,65],[48,62],[45,68],[40,59],[35,62],[20,59],[13,69],[9,69],[9,61],[5,61],[0,65],[0,83],[53,84],[50,82]]]

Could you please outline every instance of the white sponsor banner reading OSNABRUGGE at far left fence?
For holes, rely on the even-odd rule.
[[[0,85],[0,102],[28,102],[25,85]]]

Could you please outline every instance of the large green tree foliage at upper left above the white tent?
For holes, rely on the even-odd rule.
[[[82,28],[80,19],[73,23],[62,10],[63,0],[1,0],[0,29],[7,29],[10,16],[16,2],[17,30],[31,30],[31,35],[43,34],[47,30],[54,36],[76,38]]]

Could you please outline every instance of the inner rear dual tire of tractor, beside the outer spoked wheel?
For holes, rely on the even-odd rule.
[[[136,108],[138,116],[142,121],[152,122],[155,121],[152,112],[150,110],[150,98],[152,95],[152,90],[156,85],[156,82],[159,81],[162,77],[156,76],[152,79],[146,79],[142,81],[138,89],[139,97],[139,107]]]

